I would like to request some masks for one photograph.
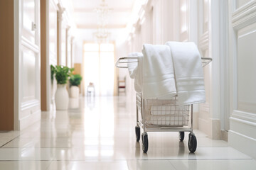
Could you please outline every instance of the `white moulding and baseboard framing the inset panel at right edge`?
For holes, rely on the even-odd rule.
[[[238,31],[252,23],[256,23],[256,1],[235,10],[235,1],[229,1],[230,6],[230,33],[229,33],[229,58],[230,64],[230,130],[228,143],[231,147],[240,150],[256,159],[256,115],[237,111],[238,107]],[[243,31],[243,30],[241,30]],[[250,42],[247,42],[250,43]],[[250,69],[250,68],[249,68]]]

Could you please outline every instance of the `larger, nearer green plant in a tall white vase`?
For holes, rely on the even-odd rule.
[[[55,67],[55,79],[57,81],[57,91],[55,93],[55,106],[56,110],[67,110],[68,109],[68,91],[66,84],[70,77],[73,69],[65,66]]]

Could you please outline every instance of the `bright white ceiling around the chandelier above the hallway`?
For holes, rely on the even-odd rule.
[[[134,0],[105,0],[112,11],[109,15],[107,28],[126,28],[132,13]],[[74,19],[77,28],[97,28],[97,13],[95,8],[102,0],[73,0]]]

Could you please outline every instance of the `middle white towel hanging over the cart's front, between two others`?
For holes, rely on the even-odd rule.
[[[143,97],[169,99],[176,95],[174,67],[166,45],[143,45]]]

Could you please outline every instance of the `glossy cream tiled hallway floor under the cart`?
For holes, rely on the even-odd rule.
[[[256,162],[195,130],[188,152],[177,132],[149,132],[149,151],[136,142],[130,97],[71,99],[68,111],[42,113],[21,132],[0,132],[0,169],[256,169]]]

